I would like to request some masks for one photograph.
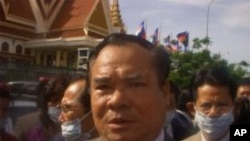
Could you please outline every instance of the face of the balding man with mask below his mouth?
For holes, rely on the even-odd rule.
[[[62,112],[59,117],[61,122],[68,122],[83,117],[84,108],[78,98],[85,85],[85,81],[77,81],[65,90],[61,103]]]

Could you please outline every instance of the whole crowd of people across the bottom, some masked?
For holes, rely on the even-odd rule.
[[[199,70],[190,87],[169,80],[163,48],[111,34],[91,52],[86,75],[39,80],[38,110],[8,131],[10,88],[0,83],[0,141],[229,141],[250,124],[250,78],[221,66]]]

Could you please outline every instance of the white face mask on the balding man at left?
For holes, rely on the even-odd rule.
[[[61,124],[62,128],[62,136],[67,140],[67,141],[78,141],[82,139],[88,139],[90,138],[90,134],[88,133],[82,133],[81,129],[81,121],[86,119],[86,117],[90,114],[91,112],[88,112],[85,114],[81,119],[77,118],[69,122],[64,122]]]

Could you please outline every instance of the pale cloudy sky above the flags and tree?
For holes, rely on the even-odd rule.
[[[188,31],[192,40],[206,35],[210,1],[119,0],[119,4],[129,34],[134,34],[146,19],[148,37],[159,27],[161,38]],[[250,0],[215,0],[210,7],[208,29],[213,53],[221,53],[231,63],[250,63]]]

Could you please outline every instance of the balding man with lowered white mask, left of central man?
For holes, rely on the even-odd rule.
[[[66,141],[86,141],[99,136],[93,123],[86,85],[86,78],[79,76],[64,92],[59,120]]]

